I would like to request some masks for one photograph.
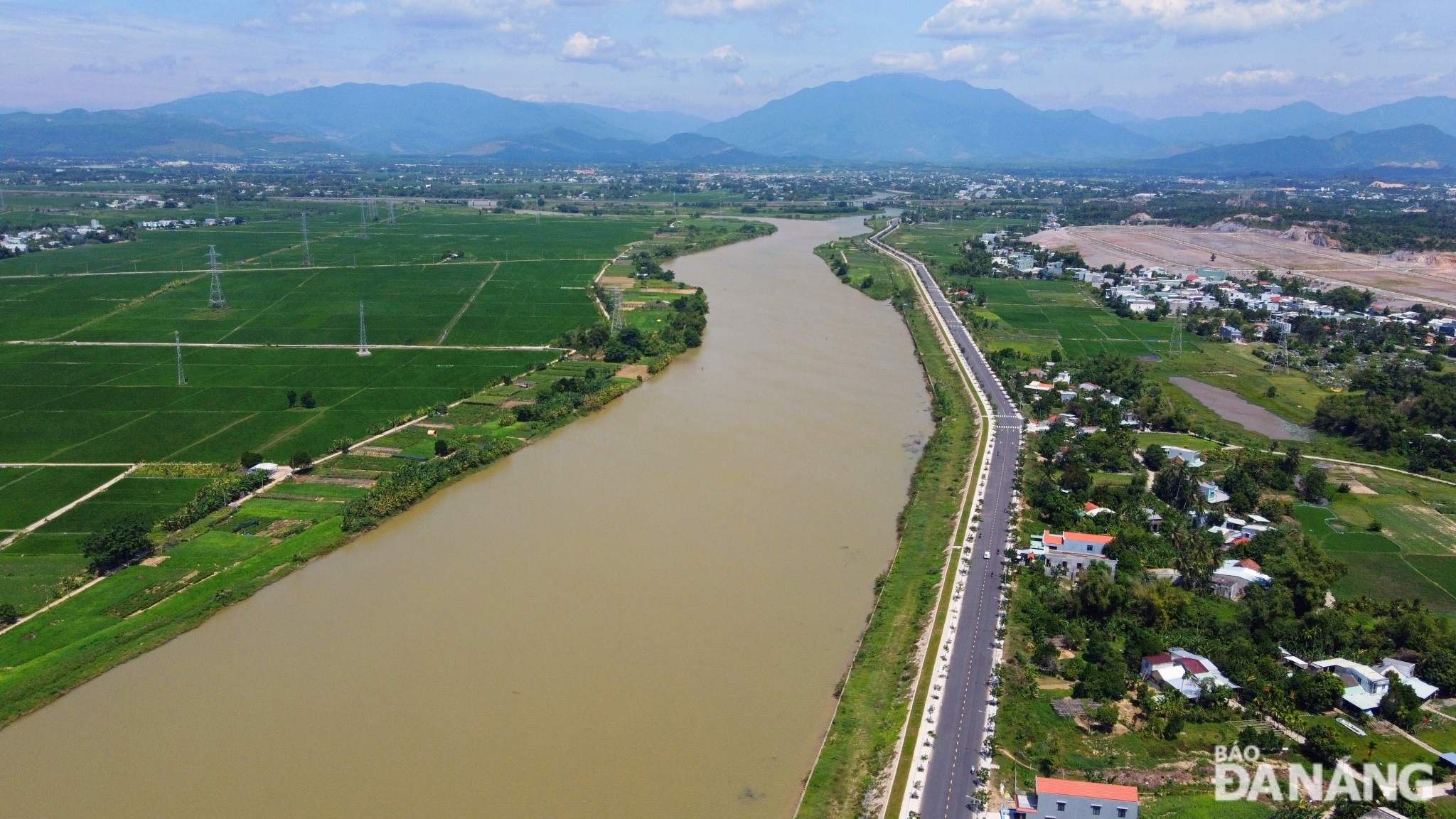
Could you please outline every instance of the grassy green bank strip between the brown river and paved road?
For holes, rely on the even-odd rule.
[[[894,300],[933,395],[935,434],[910,479],[910,497],[900,513],[900,545],[875,581],[869,625],[840,686],[839,708],[799,803],[798,816],[804,819],[860,816],[866,803],[885,799],[891,788],[890,764],[916,688],[917,643],[935,605],[946,548],[960,525],[957,512],[977,442],[973,398],[941,347],[909,274],[849,240],[815,252],[826,261],[843,252],[850,286],[875,277],[875,286],[862,290]]]

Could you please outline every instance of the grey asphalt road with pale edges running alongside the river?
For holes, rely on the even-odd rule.
[[[887,230],[888,232],[888,230]],[[970,332],[961,324],[955,309],[941,293],[939,286],[925,265],[913,256],[878,242],[885,252],[907,262],[930,294],[932,307],[951,331],[951,338],[967,363],[971,375],[990,399],[996,412],[996,443],[992,452],[990,469],[986,477],[986,494],[981,503],[980,528],[974,542],[965,545],[964,560],[957,567],[957,600],[960,616],[948,624],[938,650],[943,651],[949,630],[955,630],[951,662],[946,676],[932,682],[927,718],[935,721],[932,748],[919,746],[914,751],[914,767],[910,772],[910,794],[919,794],[919,809],[925,819],[948,819],[973,816],[971,794],[978,787],[977,771],[983,769],[990,756],[986,748],[986,717],[990,697],[990,678],[994,667],[994,640],[999,615],[1002,554],[1006,551],[1009,507],[1016,477],[1016,453],[1021,449],[1021,417],[1000,383],[992,376],[990,366],[980,350],[971,342]],[[974,488],[974,487],[973,487]],[[981,557],[990,552],[990,560]],[[964,584],[964,587],[961,587]],[[935,708],[933,714],[930,708]],[[929,753],[929,761],[923,756]],[[920,769],[925,767],[925,769]],[[910,803],[914,809],[914,802]]]

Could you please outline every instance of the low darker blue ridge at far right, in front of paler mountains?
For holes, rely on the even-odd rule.
[[[1252,144],[1207,147],[1146,168],[1181,173],[1312,173],[1392,168],[1450,168],[1456,165],[1456,137],[1434,125],[1406,125],[1328,140],[1283,137]]]

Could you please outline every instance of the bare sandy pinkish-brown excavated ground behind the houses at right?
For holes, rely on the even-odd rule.
[[[1226,270],[1245,277],[1261,268],[1296,273],[1328,284],[1374,291],[1380,303],[1423,302],[1456,307],[1456,254],[1392,254],[1372,256],[1316,245],[1319,233],[1232,227],[1136,227],[1101,224],[1042,230],[1028,240],[1047,248],[1076,248],[1093,267],[1166,267]],[[1210,258],[1211,256],[1211,258]]]

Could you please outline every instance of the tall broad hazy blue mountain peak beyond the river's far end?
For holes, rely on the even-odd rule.
[[[1156,149],[1086,111],[1041,111],[1005,90],[922,74],[804,89],[697,133],[769,156],[849,160],[1077,162]]]

